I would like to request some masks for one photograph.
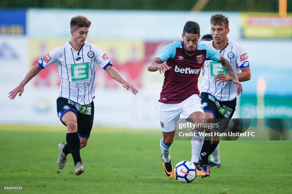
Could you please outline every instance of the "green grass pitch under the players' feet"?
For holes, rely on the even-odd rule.
[[[62,170],[56,162],[65,127],[0,125],[0,186],[24,188],[0,193],[292,193],[292,141],[221,141],[221,167],[181,184],[162,171],[161,135],[94,127],[77,177],[71,155]],[[171,157],[190,160],[191,143],[175,141]]]

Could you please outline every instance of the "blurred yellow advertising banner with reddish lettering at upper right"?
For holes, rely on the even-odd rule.
[[[292,38],[292,15],[241,13],[243,38]]]

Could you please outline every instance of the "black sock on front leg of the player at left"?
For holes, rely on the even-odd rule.
[[[82,163],[81,158],[80,158],[80,139],[77,132],[67,133],[66,141],[71,151],[71,154],[74,160],[74,165],[76,166],[78,162]]]

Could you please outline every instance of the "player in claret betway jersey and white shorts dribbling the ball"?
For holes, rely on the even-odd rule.
[[[237,84],[237,93],[242,92],[236,74],[228,62],[218,51],[210,46],[198,44],[200,27],[196,22],[186,22],[183,41],[173,42],[164,47],[148,65],[149,71],[164,73],[164,83],[160,93],[159,112],[160,126],[163,138],[160,140],[161,159],[164,174],[172,179],[174,171],[171,164],[170,150],[175,135],[175,121],[183,113],[190,122],[204,122],[204,110],[198,90],[198,77],[204,61],[212,59],[223,64],[224,69],[233,77]],[[166,63],[163,63],[166,61]],[[204,128],[196,128],[197,136],[192,138],[192,160],[197,167],[197,176],[204,177],[205,172],[198,163],[198,158],[203,145]]]

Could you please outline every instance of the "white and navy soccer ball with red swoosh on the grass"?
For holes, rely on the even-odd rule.
[[[196,166],[190,161],[180,161],[174,167],[174,177],[180,183],[190,183],[197,176]]]

